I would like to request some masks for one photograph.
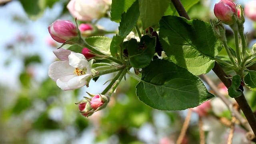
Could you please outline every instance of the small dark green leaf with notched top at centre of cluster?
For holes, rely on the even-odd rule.
[[[128,42],[128,55],[130,64],[134,68],[144,68],[150,64],[154,54],[156,46],[156,37],[150,37],[148,35],[142,36],[138,43],[136,39],[132,38]]]

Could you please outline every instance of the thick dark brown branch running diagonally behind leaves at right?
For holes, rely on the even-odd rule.
[[[176,8],[176,10],[178,11],[178,14],[184,18],[187,18],[188,20],[190,20],[186,10],[184,9],[184,7],[182,6],[180,0],[171,0],[172,3],[174,4],[174,7]],[[220,80],[224,83],[224,85],[228,88],[231,86],[231,80],[227,79],[227,75],[226,73],[222,70],[222,68],[220,67],[220,65],[215,62],[214,68],[212,69],[214,71],[214,73],[220,78]],[[252,112],[252,109],[250,108],[246,98],[244,97],[244,94],[238,98],[235,98],[236,102],[238,103],[238,105],[240,106],[241,110],[244,112],[244,116],[246,117],[246,119],[248,120],[252,131],[254,132],[254,135],[256,134],[256,118]]]

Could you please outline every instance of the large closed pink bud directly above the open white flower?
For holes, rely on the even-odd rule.
[[[48,26],[48,31],[52,38],[60,43],[64,43],[67,40],[78,36],[76,26],[69,20],[56,20]]]

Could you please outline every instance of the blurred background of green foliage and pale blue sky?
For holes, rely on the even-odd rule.
[[[235,3],[244,6],[248,1]],[[72,91],[62,91],[48,77],[48,66],[57,60],[52,50],[61,44],[52,40],[47,27],[57,19],[74,22],[66,8],[68,2],[0,0],[0,144],[174,144],[188,110],[150,108],[137,98],[138,81],[129,76],[118,86],[108,106],[89,118],[79,113],[75,103],[87,96],[86,91],[102,92],[106,87],[103,84],[113,75],[101,76],[97,82],[91,81],[89,88]],[[188,14],[190,18],[206,22],[216,20],[213,6],[217,2],[200,0]],[[115,35],[111,32],[118,30],[118,23],[106,17],[91,24],[108,31],[104,34],[110,38]],[[254,30],[254,21],[246,18],[249,48],[255,43]],[[212,72],[208,76],[227,95],[218,78]],[[246,94],[253,110],[256,109],[255,95],[255,92]],[[206,142],[225,143],[228,127],[218,122],[218,118],[230,118],[230,113],[218,98],[210,104],[214,107],[207,111],[203,127],[208,132]],[[238,144],[242,144],[241,140],[244,144],[250,143],[245,140],[243,128],[237,127],[237,132]],[[199,128],[195,111],[182,144],[197,143]]]

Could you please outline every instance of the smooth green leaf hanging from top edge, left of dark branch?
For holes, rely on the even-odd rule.
[[[170,0],[139,0],[142,28],[157,24],[170,4]]]

